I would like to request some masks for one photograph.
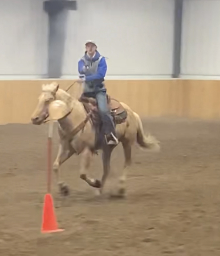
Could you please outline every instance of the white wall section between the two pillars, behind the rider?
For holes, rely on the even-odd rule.
[[[107,75],[170,75],[174,0],[78,0],[69,12],[64,75],[77,75],[85,41],[107,59]]]

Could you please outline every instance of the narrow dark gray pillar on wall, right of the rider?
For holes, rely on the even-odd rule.
[[[172,77],[174,78],[179,77],[181,72],[180,62],[181,62],[182,14],[183,14],[183,0],[175,0],[174,48],[173,48],[173,72],[172,72]]]

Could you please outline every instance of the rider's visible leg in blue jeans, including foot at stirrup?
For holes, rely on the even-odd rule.
[[[103,135],[109,145],[117,145],[118,139],[116,138],[114,121],[111,116],[110,110],[107,105],[106,90],[96,93],[96,100],[98,103],[99,113],[103,123]]]

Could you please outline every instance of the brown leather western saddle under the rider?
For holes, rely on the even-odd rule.
[[[126,109],[124,109],[124,107],[120,104],[119,101],[112,99],[109,95],[107,95],[106,97],[110,113],[114,120],[114,124],[117,125],[122,122],[125,122],[127,118]],[[91,121],[94,124],[94,126],[99,128],[99,126],[102,124],[102,121],[99,116],[98,104],[96,99],[81,95],[81,97],[78,100],[84,105],[84,108],[86,109],[87,113],[91,112]]]

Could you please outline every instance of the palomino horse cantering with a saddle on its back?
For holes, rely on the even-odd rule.
[[[159,151],[159,141],[153,136],[145,136],[141,119],[125,103],[118,102],[108,97],[109,107],[116,123],[116,135],[122,143],[125,164],[122,176],[119,178],[119,190],[121,195],[125,192],[127,168],[131,164],[131,146],[137,141],[143,149]],[[43,84],[42,92],[38,100],[36,110],[32,115],[32,122],[40,125],[47,118],[56,119],[58,122],[59,149],[57,158],[53,163],[56,173],[57,185],[60,192],[69,193],[68,186],[61,181],[60,166],[73,154],[81,154],[80,178],[90,186],[98,188],[99,193],[106,182],[110,172],[110,158],[115,146],[98,143],[97,134],[101,126],[98,118],[96,101],[92,98],[76,99],[68,92],[59,88],[59,84]],[[103,145],[103,144],[102,144]],[[90,160],[94,153],[102,150],[103,174],[101,180],[91,179],[87,175]]]

